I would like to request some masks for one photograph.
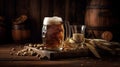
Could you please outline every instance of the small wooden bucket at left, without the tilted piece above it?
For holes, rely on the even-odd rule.
[[[30,30],[25,25],[13,25],[12,38],[14,42],[26,43],[29,42]]]

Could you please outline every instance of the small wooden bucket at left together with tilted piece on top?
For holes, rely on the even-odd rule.
[[[30,29],[26,25],[27,15],[21,15],[12,24],[12,38],[16,43],[26,43],[30,39]]]

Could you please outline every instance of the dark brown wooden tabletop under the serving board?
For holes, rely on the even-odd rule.
[[[120,67],[120,58],[95,59],[80,57],[59,60],[39,60],[34,56],[10,55],[11,48],[21,49],[20,44],[0,45],[0,67]]]

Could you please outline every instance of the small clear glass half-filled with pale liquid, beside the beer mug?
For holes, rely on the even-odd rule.
[[[72,32],[72,39],[76,43],[80,43],[79,46],[83,47],[85,42],[85,25],[70,25]]]

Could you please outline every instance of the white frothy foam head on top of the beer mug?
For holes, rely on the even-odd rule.
[[[53,25],[53,24],[61,24],[61,22],[62,22],[61,17],[54,16],[54,17],[45,17],[43,24],[44,25]]]

